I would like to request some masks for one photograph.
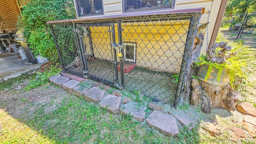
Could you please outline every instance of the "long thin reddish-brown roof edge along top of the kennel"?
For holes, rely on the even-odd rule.
[[[84,20],[98,20],[98,19],[107,19],[107,18],[121,18],[127,16],[145,16],[145,15],[154,15],[154,14],[181,14],[181,13],[193,13],[193,12],[202,12],[203,8],[188,8],[181,10],[158,10],[158,11],[150,11],[150,12],[134,12],[134,13],[126,13],[120,15],[112,15],[112,16],[88,16],[84,18],[75,18],[69,20],[54,20],[46,22],[47,24],[58,23],[58,22],[79,22]]]

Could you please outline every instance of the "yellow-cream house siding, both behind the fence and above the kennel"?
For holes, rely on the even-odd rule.
[[[122,15],[122,0],[108,0],[103,2],[104,14]],[[200,24],[208,22],[208,10],[210,11],[209,17],[209,39],[212,35],[211,29],[216,21],[220,2],[213,0],[176,0],[175,9],[187,9],[204,7],[205,12],[202,14]],[[147,24],[147,26],[146,26]],[[182,24],[184,27],[182,27]],[[124,31],[123,42],[136,42],[136,65],[142,67],[149,67],[154,70],[163,70],[167,72],[180,72],[180,65],[182,62],[182,54],[186,42],[186,31],[188,30],[188,20],[171,21],[168,24],[159,22],[149,23],[126,23],[122,24]],[[94,27],[95,28],[95,27]],[[106,27],[99,27],[98,29],[91,28],[92,41],[94,43],[94,53],[98,58],[112,60],[112,52],[110,46],[109,32]],[[117,26],[116,30],[116,43],[118,43]],[[206,49],[206,31],[203,50]],[[98,40],[100,38],[100,40]],[[112,39],[112,37],[111,37]],[[158,57],[161,56],[161,59]],[[118,58],[119,62],[119,58]]]

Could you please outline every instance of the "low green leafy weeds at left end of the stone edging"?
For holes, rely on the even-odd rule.
[[[57,68],[57,66],[51,65],[50,70],[45,70],[43,73],[36,72],[36,77],[28,83],[28,86],[24,89],[24,91],[31,90],[33,88],[38,88],[38,86],[42,86],[48,83],[50,80],[50,76],[53,76],[57,73],[60,73],[61,68]]]

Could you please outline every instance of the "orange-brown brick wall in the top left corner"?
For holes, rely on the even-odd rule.
[[[0,16],[2,18],[2,28],[6,32],[16,31],[16,23],[20,9],[16,0],[0,0]]]

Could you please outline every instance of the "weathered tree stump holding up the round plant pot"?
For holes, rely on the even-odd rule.
[[[225,108],[226,110],[236,110],[233,101],[233,89],[230,86],[214,86],[205,82],[192,79],[192,93],[190,104],[201,106],[205,113],[211,113],[212,108]]]

